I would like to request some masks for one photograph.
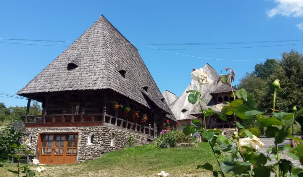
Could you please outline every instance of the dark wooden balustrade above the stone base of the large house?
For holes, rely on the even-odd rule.
[[[51,114],[34,115],[24,117],[25,123],[60,123],[60,122],[104,122],[112,126],[118,126],[128,130],[141,132],[149,136],[154,136],[154,129],[151,124],[143,126],[138,123],[132,123],[117,116],[102,114]]]

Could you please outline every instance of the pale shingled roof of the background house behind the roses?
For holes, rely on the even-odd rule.
[[[205,102],[202,103],[203,109],[207,109],[208,107],[216,110],[215,104],[216,100],[212,97],[212,93],[215,90],[226,90],[228,85],[222,84],[219,82],[216,83],[219,75],[215,71],[213,67],[211,67],[208,63],[205,64],[203,67],[203,72],[208,74],[208,78],[213,81],[212,84],[205,84],[201,87],[201,97]],[[229,87],[230,89],[230,87]],[[178,97],[177,100],[175,100],[169,107],[171,108],[171,111],[173,112],[174,116],[177,120],[185,120],[185,119],[195,119],[196,117],[193,116],[193,114],[200,114],[200,105],[199,103],[191,104],[188,102],[188,94],[186,91],[188,90],[199,90],[199,83],[198,81],[191,80],[191,84],[185,89],[185,91],[181,94],[180,97]],[[236,89],[235,89],[236,90]]]

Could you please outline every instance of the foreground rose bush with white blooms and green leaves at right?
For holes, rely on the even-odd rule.
[[[235,125],[238,129],[237,132],[233,133],[233,136],[227,138],[222,136],[222,132],[218,129],[207,129],[206,124],[201,127],[202,123],[200,120],[192,120],[191,125],[185,126],[183,132],[187,135],[191,133],[201,133],[203,139],[208,141],[217,163],[220,167],[219,171],[214,170],[214,167],[205,163],[199,165],[197,169],[207,169],[213,172],[214,176],[225,177],[226,173],[233,172],[235,175],[242,176],[265,176],[269,177],[271,172],[275,173],[276,177],[280,176],[303,176],[303,169],[300,167],[293,166],[292,162],[282,158],[282,154],[286,154],[288,157],[299,160],[303,165],[303,140],[300,138],[293,137],[291,131],[294,124],[299,126],[299,123],[294,120],[295,113],[297,111],[294,108],[292,113],[285,113],[275,109],[276,93],[281,91],[285,93],[281,88],[279,80],[275,80],[272,84],[273,87],[273,107],[272,113],[266,115],[258,110],[250,110],[248,107],[243,105],[247,100],[247,93],[245,89],[239,89],[233,91],[232,81],[235,79],[235,71],[231,68],[225,68],[224,70],[229,71],[228,74],[221,75],[217,80],[217,84],[221,81],[222,83],[229,84],[231,87],[231,97],[237,98],[231,102],[223,102],[217,105],[217,109],[212,110],[211,108],[202,108],[201,98],[201,86],[203,84],[211,83],[208,80],[207,74],[203,73],[203,70],[195,70],[191,73],[193,80],[199,82],[199,90],[189,90],[188,102],[195,104],[196,102],[200,105],[200,112],[203,114],[202,121],[205,122],[205,117],[216,114],[222,121],[226,121],[228,116],[233,116],[234,120],[255,120],[251,122],[248,128],[244,128],[239,122],[235,121]],[[267,155],[258,152],[260,148],[264,148],[264,143],[258,138],[261,135],[260,127],[264,127],[266,138],[274,138],[275,146],[272,146],[266,150]],[[292,145],[287,144],[284,147],[279,146],[283,143],[286,138],[293,139]],[[268,164],[268,161],[272,161],[270,155],[277,160],[275,163]],[[223,161],[219,160],[219,156],[223,156]]]

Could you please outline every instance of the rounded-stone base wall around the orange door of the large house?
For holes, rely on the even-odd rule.
[[[128,145],[129,132],[112,129],[105,126],[95,127],[62,127],[62,128],[26,128],[25,136],[20,143],[25,143],[28,136],[31,136],[29,149],[36,153],[38,133],[57,133],[57,132],[79,132],[77,161],[83,162],[100,157],[103,153],[113,150],[123,149]],[[93,143],[88,144],[88,135],[93,133]],[[113,137],[113,143],[111,146]],[[132,134],[135,144],[139,145],[147,141],[147,138],[138,134]]]

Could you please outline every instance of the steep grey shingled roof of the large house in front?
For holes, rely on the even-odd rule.
[[[78,67],[67,69],[69,63]],[[119,70],[126,71],[124,77]],[[138,50],[103,15],[17,94],[99,89],[112,89],[149,108],[145,94],[172,114]]]

